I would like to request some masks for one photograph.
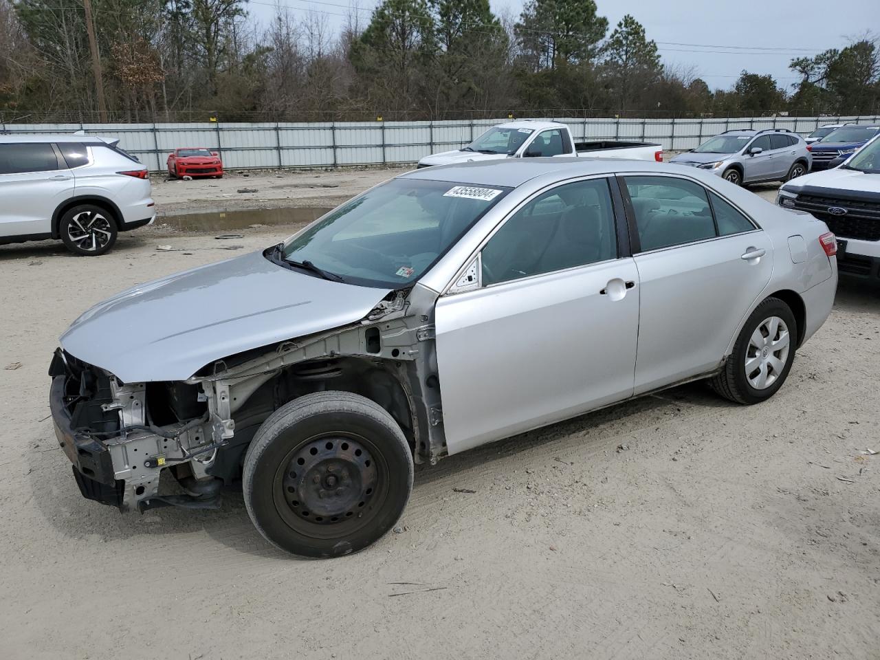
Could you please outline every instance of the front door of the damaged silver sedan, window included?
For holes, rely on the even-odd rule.
[[[436,304],[450,453],[626,399],[638,273],[618,257],[605,179],[551,188],[480,253],[480,287]]]

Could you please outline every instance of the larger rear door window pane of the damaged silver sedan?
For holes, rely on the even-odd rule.
[[[642,252],[715,238],[706,190],[669,177],[627,177]]]

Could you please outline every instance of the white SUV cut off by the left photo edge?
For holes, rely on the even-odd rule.
[[[119,231],[156,218],[147,168],[118,140],[0,136],[0,244],[61,238],[106,253]]]

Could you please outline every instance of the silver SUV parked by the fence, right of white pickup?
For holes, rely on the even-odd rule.
[[[732,129],[671,162],[708,170],[741,186],[796,179],[810,172],[812,157],[803,137],[788,128]]]

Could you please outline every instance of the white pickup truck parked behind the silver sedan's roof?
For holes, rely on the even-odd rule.
[[[663,162],[663,148],[656,143],[598,140],[576,143],[565,124],[555,121],[510,121],[489,128],[461,149],[426,156],[419,167],[450,165],[473,160],[576,156],[580,158],[632,158]]]

